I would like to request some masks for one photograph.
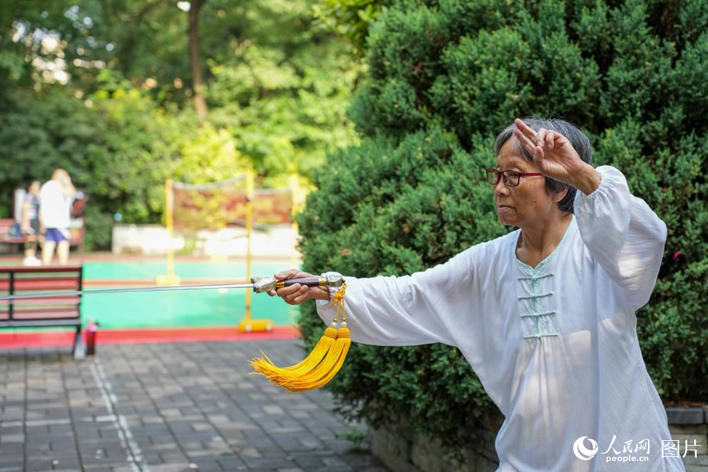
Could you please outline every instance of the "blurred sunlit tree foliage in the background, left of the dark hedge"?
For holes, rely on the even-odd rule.
[[[355,142],[345,108],[361,64],[311,0],[207,0],[198,21],[206,120],[175,2],[2,2],[0,217],[11,188],[64,166],[91,199],[89,247],[105,247],[114,213],[161,221],[165,178],[253,168],[263,185],[311,185],[328,149]]]

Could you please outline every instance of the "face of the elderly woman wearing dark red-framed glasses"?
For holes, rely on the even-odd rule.
[[[519,173],[538,172],[532,161],[527,161],[518,149],[515,137],[508,139],[496,156],[496,170],[516,171]],[[521,177],[519,185],[507,187],[504,179],[494,185],[494,203],[501,224],[510,226],[532,226],[535,221],[542,221],[554,211],[557,211],[557,202],[565,192],[559,195],[548,195],[546,191],[546,178],[542,175],[529,175]]]

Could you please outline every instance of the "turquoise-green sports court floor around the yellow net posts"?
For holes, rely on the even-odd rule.
[[[159,260],[138,258],[84,258],[81,262],[84,290],[152,287],[166,264]],[[3,258],[2,265],[16,265],[18,260]],[[72,262],[74,262],[72,260]],[[290,267],[290,261],[257,262],[251,275],[273,275]],[[246,263],[213,263],[208,260],[178,260],[175,275],[182,285],[226,284],[246,281]],[[246,289],[201,289],[173,292],[137,292],[84,294],[81,315],[101,329],[234,327],[244,318]],[[295,324],[297,309],[277,297],[251,295],[251,317],[267,318],[275,326]],[[20,329],[20,328],[15,328]]]

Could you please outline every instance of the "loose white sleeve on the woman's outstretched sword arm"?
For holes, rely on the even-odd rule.
[[[455,345],[452,332],[473,296],[469,293],[473,250],[404,277],[344,277],[352,340],[387,346]],[[329,325],[335,309],[331,301],[317,300],[317,313]]]

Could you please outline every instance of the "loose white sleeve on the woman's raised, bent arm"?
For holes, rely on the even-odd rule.
[[[666,224],[629,192],[627,180],[616,168],[596,170],[602,177],[600,186],[590,195],[576,193],[578,229],[593,258],[639,309],[649,301],[656,283]]]

